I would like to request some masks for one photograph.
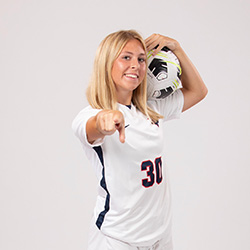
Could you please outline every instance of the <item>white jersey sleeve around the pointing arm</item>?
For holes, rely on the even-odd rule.
[[[93,109],[90,106],[88,106],[83,110],[81,110],[72,122],[72,129],[76,137],[78,137],[78,139],[84,146],[90,146],[90,147],[99,146],[104,141],[104,138],[98,139],[92,144],[90,144],[87,139],[87,133],[86,133],[87,121],[92,116],[95,116],[98,112],[100,112],[99,109]]]

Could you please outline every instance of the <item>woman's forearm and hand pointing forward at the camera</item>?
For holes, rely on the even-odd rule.
[[[86,124],[87,139],[92,144],[97,139],[119,132],[121,143],[125,142],[125,122],[123,114],[117,110],[102,110],[89,118]]]

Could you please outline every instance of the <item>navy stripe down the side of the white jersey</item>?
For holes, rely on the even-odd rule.
[[[107,189],[106,180],[105,180],[105,168],[104,168],[104,159],[103,159],[102,148],[101,148],[101,146],[98,146],[98,147],[93,147],[93,149],[97,153],[97,155],[100,159],[100,162],[102,163],[102,167],[103,167],[102,168],[102,179],[100,181],[100,185],[107,192],[104,210],[99,214],[99,216],[96,220],[97,227],[99,229],[101,229],[102,223],[104,221],[104,217],[105,217],[106,213],[109,211],[110,194],[109,194],[109,191]]]

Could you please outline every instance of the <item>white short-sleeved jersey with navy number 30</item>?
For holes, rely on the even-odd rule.
[[[171,199],[164,176],[163,122],[178,118],[183,95],[177,90],[149,107],[164,116],[156,124],[136,109],[118,104],[125,118],[125,143],[116,131],[89,144],[86,123],[100,110],[90,106],[74,119],[72,128],[80,139],[98,178],[94,210],[96,226],[107,236],[131,245],[151,245],[171,236]]]

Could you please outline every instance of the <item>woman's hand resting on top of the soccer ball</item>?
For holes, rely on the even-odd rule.
[[[152,54],[153,56],[155,56],[165,46],[167,46],[172,52],[180,48],[180,44],[176,40],[160,34],[151,35],[145,40],[145,43],[148,51],[159,45],[157,49],[154,50]]]

